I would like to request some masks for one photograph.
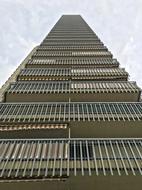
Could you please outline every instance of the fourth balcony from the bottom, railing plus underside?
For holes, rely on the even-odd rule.
[[[18,80],[95,80],[126,81],[128,73],[121,68],[26,68],[21,71]]]

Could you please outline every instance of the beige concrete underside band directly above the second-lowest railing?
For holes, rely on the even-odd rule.
[[[6,102],[137,102],[139,92],[136,93],[7,93]]]

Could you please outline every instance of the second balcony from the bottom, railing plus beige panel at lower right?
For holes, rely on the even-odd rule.
[[[142,103],[0,104],[0,125],[3,127],[52,123],[69,124],[71,137],[75,138],[141,137]],[[3,130],[0,137],[8,137],[10,134],[10,130]],[[27,134],[33,136],[32,132]]]

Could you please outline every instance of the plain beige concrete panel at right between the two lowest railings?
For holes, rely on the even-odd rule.
[[[141,138],[142,121],[71,122],[73,138]]]

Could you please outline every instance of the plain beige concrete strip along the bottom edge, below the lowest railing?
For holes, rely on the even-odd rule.
[[[76,176],[65,181],[0,182],[2,190],[140,190],[141,176]]]

